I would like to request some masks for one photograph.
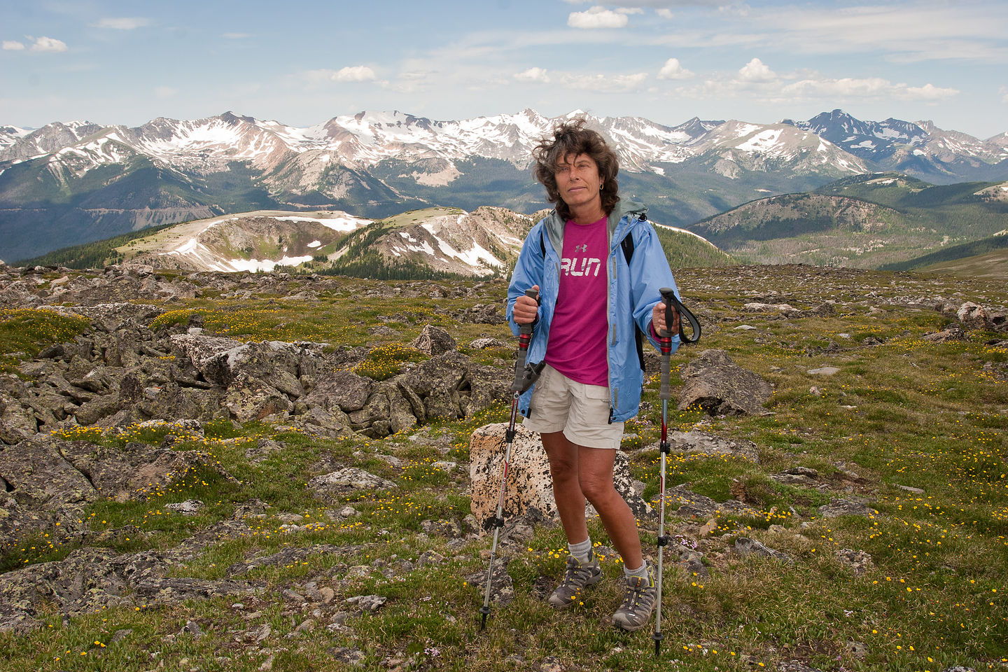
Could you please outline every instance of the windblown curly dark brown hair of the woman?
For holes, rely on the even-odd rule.
[[[560,161],[570,155],[585,154],[591,156],[599,166],[599,176],[602,178],[602,210],[610,215],[620,199],[619,183],[616,173],[620,170],[619,159],[605,139],[595,131],[586,128],[588,120],[572,119],[553,127],[552,137],[545,137],[532,150],[535,164],[532,173],[535,179],[546,187],[546,199],[553,204],[556,213],[564,220],[570,220],[571,209],[560,198],[556,188],[556,168]]]

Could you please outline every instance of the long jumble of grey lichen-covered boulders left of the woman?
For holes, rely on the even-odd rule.
[[[275,420],[332,437],[382,437],[434,418],[469,417],[506,395],[500,372],[456,349],[444,329],[420,340],[433,357],[389,381],[353,373],[366,348],[243,343],[200,326],[152,329],[150,305],[53,308],[91,328],[44,349],[0,380],[0,441],[68,426],[118,427],[150,419]]]

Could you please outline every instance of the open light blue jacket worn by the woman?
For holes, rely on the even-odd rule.
[[[609,275],[609,338],[606,350],[609,359],[610,422],[632,418],[640,408],[644,373],[637,356],[635,329],[639,327],[657,348],[657,342],[650,335],[651,311],[661,300],[660,288],[671,287],[675,290],[668,260],[646,217],[646,208],[626,200],[617,203],[609,216],[609,257],[606,264]],[[538,316],[525,356],[529,364],[541,362],[546,355],[549,324],[559,290],[564,224],[553,211],[532,227],[522,245],[508,286],[507,318],[515,335],[519,330],[514,321],[515,299],[532,285],[539,286]],[[627,236],[633,236],[634,241],[629,267],[621,248]],[[675,290],[675,295],[678,296],[678,290]],[[672,352],[678,347],[679,337],[676,334],[672,337]],[[518,409],[526,417],[533,389],[534,386],[526,390],[518,402]]]

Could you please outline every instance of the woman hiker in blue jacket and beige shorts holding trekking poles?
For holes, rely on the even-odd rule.
[[[620,200],[616,153],[584,119],[557,126],[533,150],[534,173],[555,210],[529,232],[508,287],[515,334],[534,323],[527,362],[544,362],[522,394],[523,424],[542,437],[553,496],[571,555],[549,603],[564,609],[602,579],[585,517],[586,500],[623,558],[626,588],[613,624],[640,630],[654,611],[653,569],[641,553],[613,464],[623,423],[637,414],[643,387],[640,329],[657,348],[665,324],[659,289],[675,288],[646,208]],[[624,240],[630,238],[632,247]],[[538,291],[538,302],[525,290]]]

